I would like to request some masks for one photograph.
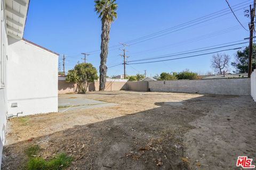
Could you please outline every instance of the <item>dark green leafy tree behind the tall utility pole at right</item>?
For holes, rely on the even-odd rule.
[[[256,68],[256,44],[253,44],[253,59],[252,59],[252,69]],[[248,60],[249,60],[249,47],[245,47],[244,50],[238,50],[236,53],[235,61],[231,63],[235,67],[235,73],[247,73],[248,72]]]

